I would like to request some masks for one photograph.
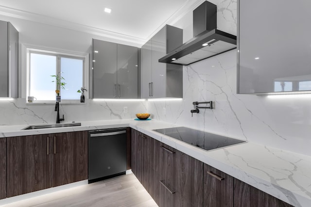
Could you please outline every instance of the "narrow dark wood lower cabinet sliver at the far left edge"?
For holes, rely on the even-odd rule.
[[[6,138],[0,138],[0,199],[6,198]]]

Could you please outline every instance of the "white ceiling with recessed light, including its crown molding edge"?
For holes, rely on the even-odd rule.
[[[144,42],[202,0],[0,0],[0,15]],[[104,13],[104,7],[112,9]]]

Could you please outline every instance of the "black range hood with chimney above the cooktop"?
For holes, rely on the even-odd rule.
[[[193,38],[159,59],[189,65],[237,48],[237,36],[217,30],[217,6],[205,1],[193,10]]]

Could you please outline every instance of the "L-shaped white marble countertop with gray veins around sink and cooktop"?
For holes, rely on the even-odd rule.
[[[132,127],[295,207],[311,206],[310,156],[256,143],[241,143],[206,151],[153,131],[153,129],[158,128],[180,127],[156,120],[136,121],[133,119],[122,119],[87,121],[81,122],[81,127],[21,130],[27,126],[0,127],[0,138],[114,127]]]

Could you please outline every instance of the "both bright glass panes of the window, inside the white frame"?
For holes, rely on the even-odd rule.
[[[60,75],[65,80],[65,89],[60,89],[62,100],[80,100],[77,93],[85,86],[85,57],[60,54],[49,51],[29,50],[28,96],[39,101],[55,101],[56,83],[52,75]]]

